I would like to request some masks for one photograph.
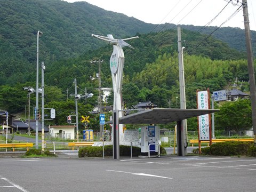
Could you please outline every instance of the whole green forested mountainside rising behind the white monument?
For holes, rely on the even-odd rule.
[[[83,113],[79,116],[89,115],[98,105],[99,80],[92,81],[91,77],[96,77],[99,66],[91,60],[104,60],[101,86],[112,86],[109,58],[113,46],[91,34],[112,34],[115,38],[139,36],[127,41],[134,49],[123,48],[122,95],[127,107],[151,101],[159,108],[179,108],[177,26],[145,23],[86,2],[0,0],[0,9],[0,109],[10,113],[25,110],[28,99],[23,87],[35,87],[36,82],[38,30],[43,32],[39,37],[39,65],[44,61],[46,66],[45,107],[57,110],[57,118],[49,124],[65,124],[66,116],[75,110],[74,98],[69,95],[74,94],[74,78],[78,94],[94,94],[92,98],[79,100],[79,113]],[[202,27],[181,28],[182,46],[186,47],[183,57],[187,108],[196,108],[197,89],[209,88],[211,92],[226,89],[235,77],[242,82],[239,88],[249,91],[243,30],[220,28],[218,33],[214,32],[217,39],[214,34],[207,35],[215,30],[213,27],[205,28],[205,34]],[[252,36],[255,35],[253,31]],[[32,106],[35,94],[30,99]],[[108,105],[112,100],[110,95]],[[94,130],[99,129],[98,120],[99,116],[91,116]],[[194,123],[190,122],[189,126],[194,127],[191,129],[197,129]]]

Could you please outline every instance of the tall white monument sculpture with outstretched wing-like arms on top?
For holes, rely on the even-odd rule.
[[[93,37],[99,38],[103,41],[109,42],[113,45],[113,53],[110,57],[110,69],[112,73],[112,81],[113,81],[113,91],[114,91],[114,103],[113,110],[122,110],[122,77],[123,77],[123,68],[124,68],[124,52],[123,47],[129,46],[134,49],[131,45],[124,42],[126,40],[139,38],[130,37],[125,39],[115,39],[113,35],[107,35],[107,37],[94,35]],[[119,111],[119,118],[122,117],[122,111]],[[121,131],[119,131],[119,141],[124,142],[124,133],[123,133],[123,125],[119,125]]]

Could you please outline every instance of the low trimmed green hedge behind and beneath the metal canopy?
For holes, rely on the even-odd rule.
[[[139,156],[141,149],[139,147],[132,146],[132,155]],[[102,146],[101,147],[83,147],[78,151],[78,157],[102,157]],[[166,150],[163,146],[160,146],[160,154],[165,155]],[[131,155],[131,146],[119,146],[119,155],[120,156],[130,156]],[[113,146],[107,145],[104,146],[104,156],[113,156]]]

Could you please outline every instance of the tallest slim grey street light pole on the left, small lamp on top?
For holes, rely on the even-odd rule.
[[[39,42],[39,36],[41,36],[43,33],[41,31],[37,31],[37,50],[36,50],[36,113],[39,113],[39,109],[38,109],[38,61],[39,61],[39,58],[38,58],[38,42]],[[36,149],[38,149],[38,115],[36,114]]]

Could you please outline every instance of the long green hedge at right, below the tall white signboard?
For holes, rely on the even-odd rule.
[[[194,154],[198,154],[198,149],[193,149]],[[244,141],[226,141],[214,143],[210,147],[201,149],[202,155],[220,155],[220,156],[252,156],[256,157],[256,147],[254,143]]]

